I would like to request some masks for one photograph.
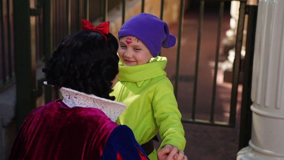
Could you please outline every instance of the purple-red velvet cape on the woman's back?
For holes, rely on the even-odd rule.
[[[99,109],[57,99],[27,115],[9,159],[100,159],[117,126]]]

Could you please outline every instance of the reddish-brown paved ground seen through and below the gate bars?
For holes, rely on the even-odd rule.
[[[222,26],[222,37],[229,29],[230,13],[225,11]],[[212,99],[214,58],[216,52],[216,35],[218,12],[205,12],[201,37],[200,63],[198,69],[198,88],[196,100],[196,118],[208,120]],[[196,58],[198,13],[191,11],[184,15],[182,34],[180,81],[178,86],[178,104],[183,118],[191,118],[193,80]],[[178,23],[170,25],[170,32],[178,35]],[[221,38],[222,40],[222,38]],[[177,46],[177,45],[176,45]],[[168,57],[167,76],[174,84],[177,47],[163,49],[162,56]],[[221,46],[222,48],[222,46]],[[220,55],[217,76],[215,120],[228,122],[231,83],[222,82],[222,62],[226,56]],[[239,87],[236,126],[235,128],[207,126],[183,123],[187,140],[185,153],[189,159],[198,160],[231,160],[236,159],[238,152],[238,132],[240,121],[241,90]],[[159,146],[159,143],[155,143]]]

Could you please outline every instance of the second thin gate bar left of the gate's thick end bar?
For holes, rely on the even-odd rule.
[[[194,89],[193,89],[193,100],[192,100],[192,119],[193,120],[195,119],[198,65],[199,65],[199,54],[200,54],[200,40],[201,40],[201,33],[202,33],[202,26],[203,26],[203,15],[204,15],[204,0],[201,0],[200,9],[199,9],[197,49],[196,49],[195,73],[194,73]]]

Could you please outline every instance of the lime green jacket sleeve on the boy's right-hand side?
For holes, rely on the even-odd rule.
[[[173,85],[169,79],[163,80],[157,85],[153,97],[153,110],[162,143],[159,149],[166,144],[178,146],[184,150],[186,139],[182,126],[180,111],[173,93]]]

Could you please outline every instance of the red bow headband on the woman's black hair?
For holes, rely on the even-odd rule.
[[[100,33],[102,36],[104,36],[107,43],[107,36],[104,34],[109,34],[109,21],[102,22],[98,26],[94,26],[93,24],[91,24],[91,22],[87,21],[86,19],[81,19],[81,22],[82,22],[82,30]]]

